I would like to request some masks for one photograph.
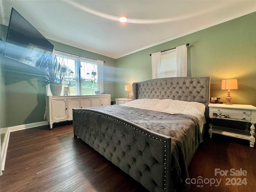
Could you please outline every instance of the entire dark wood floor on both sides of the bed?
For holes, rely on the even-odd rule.
[[[204,138],[190,166],[190,178],[220,179],[220,185],[192,184],[190,192],[256,191],[256,149],[248,141],[214,135]],[[214,169],[229,170],[226,177]],[[246,170],[246,176],[230,176],[230,169]],[[232,184],[246,179],[247,184]],[[232,179],[235,178],[235,179]],[[192,180],[192,182],[194,182]],[[230,182],[231,183],[231,182]],[[73,136],[72,125],[48,126],[12,132],[6,165],[0,177],[1,192],[146,192],[138,182]]]

